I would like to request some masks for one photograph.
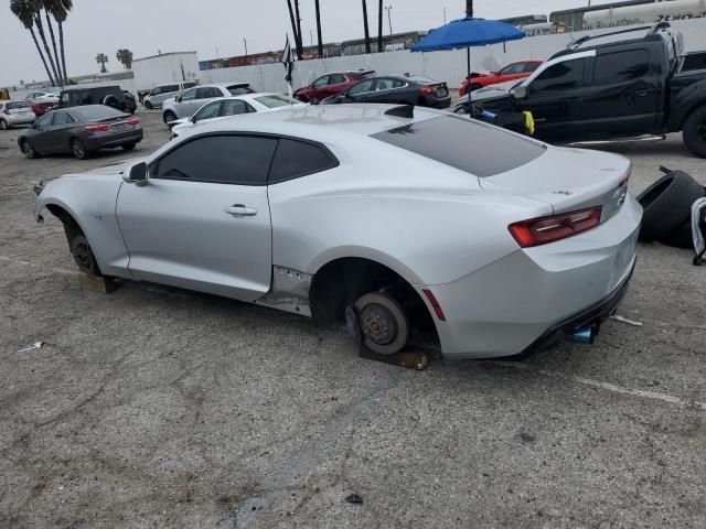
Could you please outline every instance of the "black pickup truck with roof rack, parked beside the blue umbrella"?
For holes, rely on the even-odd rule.
[[[587,46],[645,30],[638,39]],[[582,37],[510,94],[473,105],[495,114],[530,110],[536,136],[559,142],[683,131],[686,147],[706,158],[706,52],[683,48],[668,23]]]

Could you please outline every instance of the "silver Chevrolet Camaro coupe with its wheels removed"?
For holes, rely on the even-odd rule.
[[[590,341],[635,262],[630,163],[430,109],[295,106],[38,190],[81,269],[447,358]]]

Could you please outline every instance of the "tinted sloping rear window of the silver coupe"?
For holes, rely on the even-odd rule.
[[[545,152],[541,143],[456,116],[418,121],[373,138],[480,177],[511,171]]]

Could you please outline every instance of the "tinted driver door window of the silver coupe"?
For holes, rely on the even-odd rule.
[[[266,185],[277,139],[205,136],[178,145],[150,165],[150,177],[214,184]]]

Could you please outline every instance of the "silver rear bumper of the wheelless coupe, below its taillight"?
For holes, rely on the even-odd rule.
[[[436,322],[443,355],[514,356],[605,319],[634,268],[641,218],[642,208],[629,198],[590,231],[517,250],[451,283],[420,287],[446,314],[446,322]]]

